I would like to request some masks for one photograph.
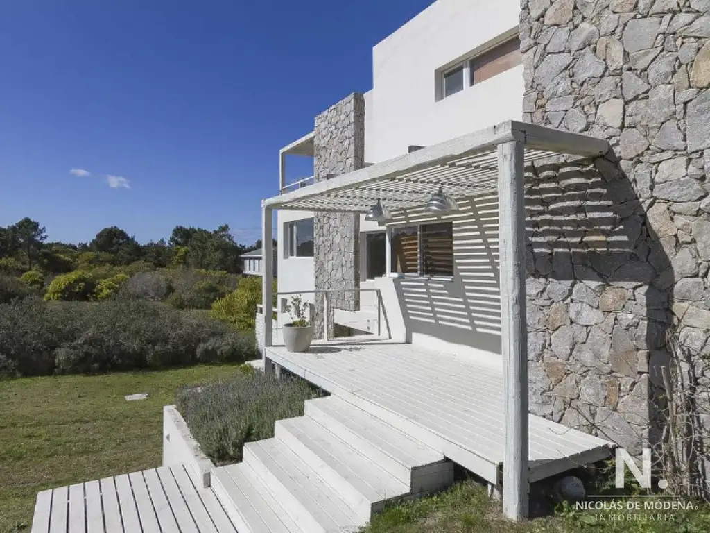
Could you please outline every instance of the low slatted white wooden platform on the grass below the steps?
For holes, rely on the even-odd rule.
[[[162,467],[44,490],[32,533],[236,533],[209,489]]]

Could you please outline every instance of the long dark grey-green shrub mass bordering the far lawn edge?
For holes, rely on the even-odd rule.
[[[96,373],[256,357],[254,339],[162,303],[115,299],[0,305],[0,371]]]

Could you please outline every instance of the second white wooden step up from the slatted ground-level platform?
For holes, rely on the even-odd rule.
[[[277,438],[247,443],[244,463],[303,532],[356,532],[370,519],[370,515],[354,510],[316,470]]]

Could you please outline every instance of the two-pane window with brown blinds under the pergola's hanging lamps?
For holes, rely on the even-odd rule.
[[[393,274],[454,275],[454,230],[451,222],[395,227],[391,240]]]

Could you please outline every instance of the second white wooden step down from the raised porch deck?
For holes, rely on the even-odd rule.
[[[361,515],[369,516],[381,510],[386,500],[410,492],[409,483],[402,483],[310,418],[276,422],[275,437]]]

